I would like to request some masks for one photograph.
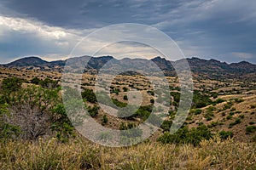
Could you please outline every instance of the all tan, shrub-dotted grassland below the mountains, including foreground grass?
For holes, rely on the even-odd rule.
[[[160,129],[142,144],[108,148],[84,139],[67,117],[61,99],[60,74],[2,68],[0,86],[1,169],[255,169],[256,84],[227,79],[194,80],[189,116],[170,134],[180,88],[170,82],[170,111]],[[95,75],[84,74],[81,96],[91,117],[104,127],[125,130],[145,121],[154,108],[146,77],[119,75],[107,105],[125,108],[127,93],[142,92],[142,105],[131,116],[117,118],[99,107]],[[102,99],[105,98],[102,94]],[[161,98],[159,98],[161,99]],[[169,105],[169,104],[168,104]],[[123,110],[118,112],[122,115]],[[159,121],[155,116],[152,122]],[[150,121],[150,120],[149,120]],[[142,134],[137,132],[138,137]]]

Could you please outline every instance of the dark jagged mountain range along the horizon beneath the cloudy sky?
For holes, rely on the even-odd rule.
[[[82,56],[73,59],[90,59],[86,66],[87,70],[99,71],[103,65],[112,61],[115,65],[123,63],[130,63],[137,68],[147,67],[148,59],[114,59],[112,56],[90,57]],[[177,65],[183,62],[183,59],[177,61],[166,60],[165,58],[155,57],[150,59],[154,64],[165,72],[167,76],[175,76],[176,72],[173,65]],[[218,61],[217,59],[199,59],[192,57],[187,59],[190,70],[194,73],[195,77],[204,77],[210,79],[223,79],[223,78],[236,78],[247,81],[254,81],[256,79],[256,65],[253,65],[247,61],[241,61],[239,63],[227,64],[226,62]],[[3,65],[8,68],[21,68],[26,70],[40,70],[40,71],[63,71],[66,60],[46,61],[39,57],[25,57],[17,59],[9,64]],[[150,65],[149,65],[150,66]]]

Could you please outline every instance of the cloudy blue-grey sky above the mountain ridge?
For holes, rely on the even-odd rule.
[[[1,0],[0,63],[32,55],[46,60],[67,59],[78,42],[92,32],[136,23],[164,32],[185,57],[255,64],[255,7],[255,0]],[[115,33],[123,35],[125,31],[118,29]],[[144,34],[135,31],[132,37]],[[158,55],[147,44],[118,42],[106,47],[100,37],[88,41],[77,54],[98,52],[102,46],[102,53],[95,54]]]

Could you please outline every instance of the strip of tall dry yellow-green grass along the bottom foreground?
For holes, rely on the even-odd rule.
[[[1,169],[256,169],[254,144],[232,139],[108,148],[88,141],[2,142]]]

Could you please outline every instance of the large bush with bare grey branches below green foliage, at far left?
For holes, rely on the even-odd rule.
[[[9,99],[11,116],[5,116],[5,122],[20,128],[21,139],[38,139],[50,135],[51,110],[60,102],[59,89],[46,89],[35,86],[15,91]]]

